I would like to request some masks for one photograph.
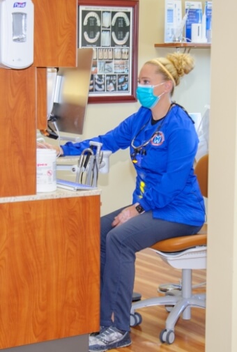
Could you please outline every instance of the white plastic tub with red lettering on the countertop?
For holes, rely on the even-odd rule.
[[[54,149],[37,149],[36,185],[37,192],[56,190],[56,151]]]

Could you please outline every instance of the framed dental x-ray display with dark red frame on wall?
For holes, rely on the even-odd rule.
[[[136,101],[138,0],[78,1],[78,47],[93,48],[89,102]]]

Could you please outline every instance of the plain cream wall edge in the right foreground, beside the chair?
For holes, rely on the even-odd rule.
[[[237,49],[231,36],[236,12],[236,0],[214,3],[206,352],[237,351]]]

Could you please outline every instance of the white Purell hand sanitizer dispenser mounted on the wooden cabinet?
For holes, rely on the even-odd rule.
[[[32,63],[32,1],[0,0],[0,67],[22,69]]]

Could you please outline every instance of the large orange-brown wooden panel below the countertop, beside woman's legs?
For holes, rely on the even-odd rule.
[[[99,329],[100,197],[0,204],[0,349]]]

